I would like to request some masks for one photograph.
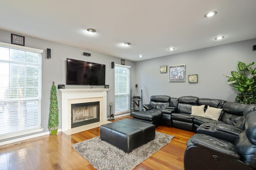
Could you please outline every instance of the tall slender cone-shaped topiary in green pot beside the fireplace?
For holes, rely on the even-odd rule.
[[[58,132],[59,126],[59,109],[58,109],[58,98],[56,92],[56,86],[52,82],[51,96],[50,96],[50,114],[48,120],[48,128],[51,135],[55,135]]]

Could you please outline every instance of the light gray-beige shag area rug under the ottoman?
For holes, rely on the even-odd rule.
[[[156,131],[155,139],[126,153],[100,137],[75,143],[72,148],[98,170],[132,170],[138,164],[172,141],[174,135]]]

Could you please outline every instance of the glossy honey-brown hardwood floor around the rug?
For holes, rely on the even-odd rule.
[[[124,116],[113,121],[124,118],[131,117]],[[184,170],[186,142],[194,133],[163,125],[156,127],[156,131],[175,137],[134,170]],[[45,135],[0,146],[0,170],[94,170],[71,145],[98,135],[99,127],[74,135],[58,132],[53,136]]]

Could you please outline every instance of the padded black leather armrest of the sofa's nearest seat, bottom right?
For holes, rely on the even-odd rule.
[[[197,133],[196,135],[193,135],[191,137],[190,141],[200,148],[212,150],[214,152],[224,154],[234,159],[240,158],[240,155],[236,153],[233,149],[233,143],[226,140]]]

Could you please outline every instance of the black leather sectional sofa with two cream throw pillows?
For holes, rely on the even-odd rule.
[[[194,131],[184,154],[185,170],[256,169],[256,104],[151,96],[132,117]]]

